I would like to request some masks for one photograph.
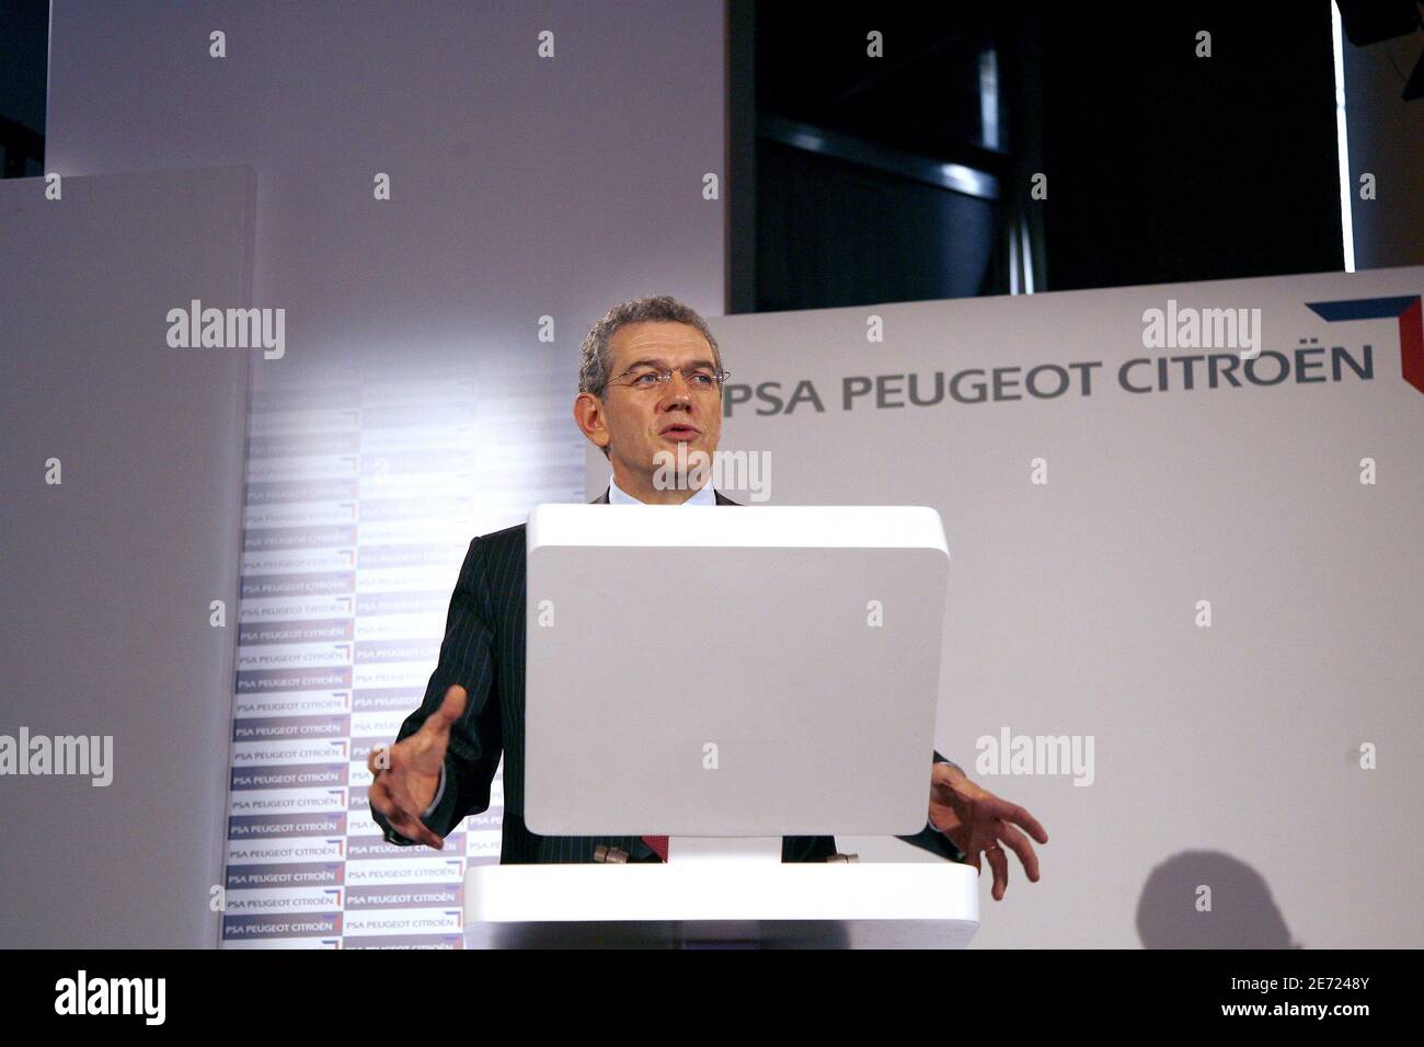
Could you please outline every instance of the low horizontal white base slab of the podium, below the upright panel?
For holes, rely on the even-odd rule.
[[[473,866],[466,943],[961,949],[978,930],[968,865],[688,855],[695,843],[674,838],[666,863]]]

